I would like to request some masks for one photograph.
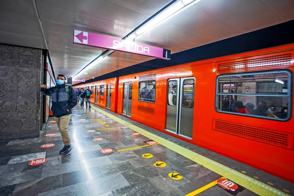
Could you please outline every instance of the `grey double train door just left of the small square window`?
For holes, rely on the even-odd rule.
[[[123,115],[131,117],[133,83],[123,84]]]

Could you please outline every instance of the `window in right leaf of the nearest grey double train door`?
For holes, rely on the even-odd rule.
[[[185,79],[183,82],[183,102],[184,108],[194,108],[194,79]]]

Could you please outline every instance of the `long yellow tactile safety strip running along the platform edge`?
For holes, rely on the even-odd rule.
[[[145,137],[160,143],[161,145],[170,148],[171,150],[181,154],[182,156],[198,163],[199,165],[204,166],[205,168],[216,172],[218,174],[220,174],[221,176],[224,176],[225,178],[228,178],[230,180],[232,180],[233,182],[236,182],[237,184],[240,184],[241,186],[245,187],[246,189],[261,195],[261,196],[289,196],[288,194],[275,189],[273,187],[271,187],[270,185],[267,185],[263,182],[260,182],[252,177],[249,177],[247,175],[245,175],[244,173],[238,172],[236,170],[233,170],[227,166],[224,166],[214,160],[211,160],[209,158],[206,158],[205,156],[202,156],[192,150],[189,150],[185,147],[181,147],[180,145],[174,144],[173,142],[166,140],[160,136],[157,136],[153,133],[150,133],[138,126],[135,126],[131,123],[128,123],[126,121],[123,121],[122,119],[108,113],[105,112],[95,106],[93,106],[93,108],[95,110],[97,110],[98,112],[110,117],[111,119],[117,121],[118,123],[123,124],[124,126],[129,127],[130,129],[144,135]]]

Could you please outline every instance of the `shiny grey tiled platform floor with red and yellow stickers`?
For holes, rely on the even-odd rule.
[[[132,130],[126,125],[137,128]],[[290,182],[102,108],[92,107],[89,111],[76,106],[69,129],[73,150],[68,156],[59,154],[63,143],[53,118],[49,119],[46,130],[41,131],[40,138],[0,141],[0,196],[258,195],[240,185],[249,187],[252,183],[244,180],[234,181],[239,183],[235,191],[221,187],[216,180],[222,175],[186,158],[184,153],[173,151],[176,147],[184,147],[227,166],[244,179],[252,177],[250,179],[255,180],[253,191],[258,190],[256,184],[259,183],[263,189],[272,191],[270,195],[294,193],[294,185]],[[95,132],[87,132],[89,130]],[[157,138],[153,139],[157,144],[148,144],[152,139],[144,136],[147,132]],[[103,140],[93,141],[95,138]],[[172,149],[160,144],[164,140],[173,144]],[[44,144],[54,146],[42,148]],[[47,162],[37,166],[28,164],[38,158],[46,158]]]

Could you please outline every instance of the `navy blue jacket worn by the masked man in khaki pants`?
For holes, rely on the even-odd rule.
[[[54,117],[62,117],[72,114],[72,108],[76,105],[77,98],[71,86],[69,86],[69,94],[65,90],[65,84],[57,85],[49,89],[41,89],[41,93],[43,95],[51,96],[51,110]],[[67,109],[69,109],[69,112]]]

